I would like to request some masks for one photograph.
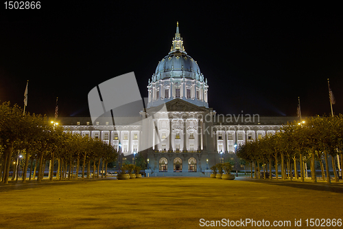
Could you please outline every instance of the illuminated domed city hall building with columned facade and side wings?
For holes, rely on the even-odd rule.
[[[148,79],[147,92],[146,109],[142,107],[137,116],[115,117],[115,125],[104,117],[95,123],[90,117],[64,117],[60,123],[66,131],[112,144],[121,153],[121,163],[132,162],[140,152],[157,175],[191,176],[236,160],[237,146],[275,133],[296,119],[216,114],[209,107],[207,79],[187,54],[178,25],[169,54]],[[142,124],[146,118],[149,122]]]

